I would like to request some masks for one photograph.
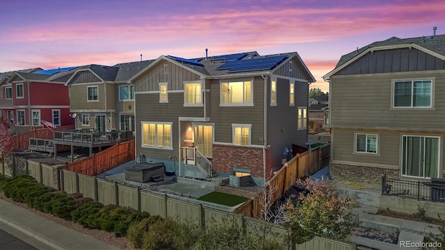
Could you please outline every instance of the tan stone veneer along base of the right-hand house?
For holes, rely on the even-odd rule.
[[[384,174],[388,178],[400,178],[399,169],[330,163],[330,175],[334,181],[380,184]]]

